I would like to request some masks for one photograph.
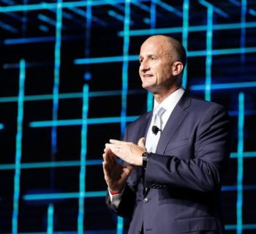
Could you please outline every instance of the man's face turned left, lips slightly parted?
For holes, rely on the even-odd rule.
[[[148,39],[140,48],[140,78],[143,88],[153,93],[170,88],[176,80],[172,72],[171,48],[162,39]]]

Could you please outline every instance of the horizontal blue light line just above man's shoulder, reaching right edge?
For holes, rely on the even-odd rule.
[[[230,89],[230,88],[254,88],[254,87],[256,87],[256,81],[211,84],[211,90]],[[204,91],[205,88],[206,88],[205,85],[192,85],[192,86],[190,86],[190,90],[192,90],[192,91]]]

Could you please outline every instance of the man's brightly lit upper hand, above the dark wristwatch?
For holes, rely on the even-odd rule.
[[[110,140],[110,144],[107,143],[106,147],[129,165],[142,166],[142,154],[146,151],[144,142],[144,137],[140,138],[138,145],[120,140]]]

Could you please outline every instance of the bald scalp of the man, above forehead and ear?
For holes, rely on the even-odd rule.
[[[144,43],[146,42],[156,42],[162,51],[165,51],[165,55],[173,61],[181,61],[183,66],[185,67],[187,64],[187,53],[181,42],[174,39],[173,37],[168,37],[165,35],[154,35],[152,37],[148,37]]]

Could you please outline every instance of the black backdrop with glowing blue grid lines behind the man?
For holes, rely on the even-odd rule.
[[[138,76],[152,34],[183,42],[190,94],[225,105],[227,233],[256,233],[256,2],[0,0],[0,233],[125,233],[102,151],[152,108]]]

